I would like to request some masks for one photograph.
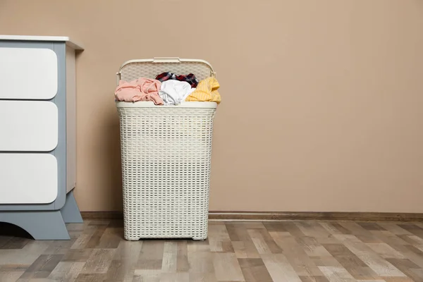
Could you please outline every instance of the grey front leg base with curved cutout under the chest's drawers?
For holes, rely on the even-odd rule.
[[[0,212],[0,221],[23,228],[35,240],[71,239],[59,211]]]

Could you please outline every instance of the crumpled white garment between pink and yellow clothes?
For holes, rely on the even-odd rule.
[[[178,105],[194,90],[195,88],[191,88],[190,83],[186,81],[166,80],[161,82],[159,95],[165,105]]]

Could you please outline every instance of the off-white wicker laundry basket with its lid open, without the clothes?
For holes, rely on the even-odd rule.
[[[121,66],[118,80],[159,73],[215,75],[192,59],[142,59]],[[121,123],[124,237],[207,238],[212,131],[216,103],[116,102]]]

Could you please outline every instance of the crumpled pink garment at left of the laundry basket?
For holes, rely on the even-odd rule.
[[[116,87],[115,97],[123,102],[152,101],[156,105],[163,105],[163,99],[159,96],[160,86],[159,80],[150,78],[138,78],[131,82],[121,80]]]

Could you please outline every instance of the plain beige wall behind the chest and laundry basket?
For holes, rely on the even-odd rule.
[[[0,0],[0,34],[85,46],[83,211],[122,207],[119,66],[180,56],[221,83],[211,210],[423,212],[421,0]]]

